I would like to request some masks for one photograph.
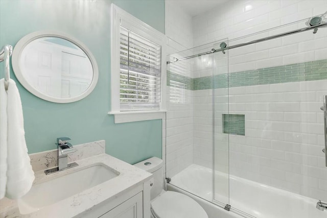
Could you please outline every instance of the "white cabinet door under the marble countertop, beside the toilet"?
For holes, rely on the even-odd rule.
[[[142,218],[143,197],[142,192],[106,212],[101,218]]]

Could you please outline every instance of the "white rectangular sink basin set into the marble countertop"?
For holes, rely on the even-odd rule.
[[[52,180],[33,185],[27,195],[18,200],[19,212],[28,214],[37,211],[120,174],[101,163],[92,164],[87,168],[77,169],[71,174],[59,176],[64,172],[56,173],[58,177]]]

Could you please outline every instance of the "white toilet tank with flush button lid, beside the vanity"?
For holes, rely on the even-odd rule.
[[[162,169],[162,165],[162,160],[157,157],[151,157],[149,159],[134,164],[134,166],[144,169],[145,171],[153,174],[151,200],[157,197],[159,193],[164,189],[164,172]]]

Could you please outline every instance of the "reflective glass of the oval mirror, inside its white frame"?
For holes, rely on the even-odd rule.
[[[57,37],[42,37],[22,51],[19,67],[38,91],[55,98],[78,96],[90,86],[93,69],[78,46]]]

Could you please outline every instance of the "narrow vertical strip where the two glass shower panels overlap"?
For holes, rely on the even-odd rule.
[[[215,49],[228,46],[217,41]],[[214,53],[213,71],[213,202],[229,207],[228,50]]]

